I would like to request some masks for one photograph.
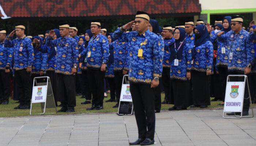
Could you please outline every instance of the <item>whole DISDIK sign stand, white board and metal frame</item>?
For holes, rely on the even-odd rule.
[[[37,82],[38,79],[46,79],[46,82]],[[35,85],[35,86],[34,86]],[[38,115],[45,114],[46,108],[55,108],[56,112],[47,113],[47,114],[56,114],[57,108],[54,101],[52,85],[50,82],[50,78],[46,77],[35,77],[33,81],[33,90],[32,90],[32,99],[30,105],[30,115],[32,110],[33,103],[40,103],[42,113]]]

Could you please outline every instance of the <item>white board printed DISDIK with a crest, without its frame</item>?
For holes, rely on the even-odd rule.
[[[46,101],[47,85],[34,86],[31,103],[42,103]]]

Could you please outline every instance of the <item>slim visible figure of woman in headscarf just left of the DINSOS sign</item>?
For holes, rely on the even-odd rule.
[[[114,39],[112,37],[113,33],[108,33],[106,36],[109,41],[109,61],[107,62],[107,69],[105,73],[105,78],[109,83],[110,86],[110,99],[106,102],[112,102],[116,100],[116,84],[114,78],[114,49],[113,49],[113,42]]]

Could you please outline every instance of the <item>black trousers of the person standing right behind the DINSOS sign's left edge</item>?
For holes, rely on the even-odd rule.
[[[118,72],[114,72],[115,82],[116,82],[116,101],[119,104],[120,96],[121,96],[121,89],[123,84],[123,71],[120,70]]]

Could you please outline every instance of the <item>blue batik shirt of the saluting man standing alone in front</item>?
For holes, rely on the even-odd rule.
[[[143,82],[151,84],[154,77],[162,76],[162,48],[159,37],[147,30],[142,35],[137,31],[123,33],[120,28],[113,33],[112,37],[121,37],[130,43],[128,51],[132,52],[129,65],[129,80],[131,82]],[[138,57],[139,49],[142,49],[142,57]]]

